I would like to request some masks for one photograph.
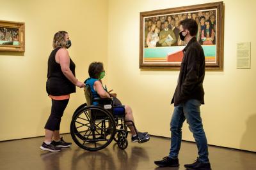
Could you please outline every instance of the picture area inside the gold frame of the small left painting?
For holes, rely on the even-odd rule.
[[[19,29],[0,27],[0,45],[13,45],[13,41],[19,41]]]

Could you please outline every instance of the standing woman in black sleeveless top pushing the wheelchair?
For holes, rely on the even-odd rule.
[[[48,73],[46,91],[52,99],[51,115],[45,124],[45,139],[40,146],[42,150],[59,152],[61,148],[71,145],[60,138],[60,122],[67,107],[70,94],[76,92],[77,87],[84,87],[84,83],[75,77],[76,65],[70,59],[68,48],[71,41],[68,32],[59,31],[54,34],[52,50],[48,59]]]

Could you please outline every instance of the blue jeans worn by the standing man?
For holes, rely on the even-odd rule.
[[[189,130],[193,133],[198,148],[198,159],[200,162],[208,163],[208,146],[205,132],[203,129],[202,119],[200,117],[200,101],[190,99],[186,103],[175,106],[171,120],[171,149],[170,158],[177,158],[180,151],[182,139],[182,125],[185,119],[189,124]]]

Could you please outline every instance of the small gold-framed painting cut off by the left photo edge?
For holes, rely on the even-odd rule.
[[[25,51],[25,24],[0,20],[0,51]]]

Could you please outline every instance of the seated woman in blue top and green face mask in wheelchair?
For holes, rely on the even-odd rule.
[[[102,62],[92,62],[89,66],[88,73],[90,78],[86,79],[84,83],[86,85],[90,86],[90,89],[92,91],[93,98],[100,97],[100,98],[111,98],[113,97],[113,103],[114,106],[122,106],[120,101],[116,98],[116,94],[111,94],[107,91],[107,89],[103,87],[102,85],[102,78],[105,76],[105,71]],[[95,106],[98,106],[98,102],[92,103]],[[128,105],[124,105],[125,108],[125,121],[127,121],[125,124],[129,127],[132,137],[132,142],[138,142],[139,138],[143,141],[148,141],[150,139],[150,136],[147,132],[139,132],[136,129],[134,129],[134,126],[131,122],[134,122],[132,109]],[[115,115],[115,109],[113,114]]]

